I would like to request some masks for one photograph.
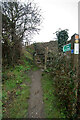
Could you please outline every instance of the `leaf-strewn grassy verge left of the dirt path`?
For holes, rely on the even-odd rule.
[[[3,72],[3,118],[26,118],[29,99],[31,69],[29,62],[9,68]]]

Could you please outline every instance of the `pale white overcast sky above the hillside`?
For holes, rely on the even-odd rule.
[[[26,0],[21,0],[26,2]],[[33,42],[49,42],[55,40],[53,34],[59,28],[68,29],[69,39],[78,33],[79,0],[34,0],[41,9],[43,23],[39,34],[34,35]]]

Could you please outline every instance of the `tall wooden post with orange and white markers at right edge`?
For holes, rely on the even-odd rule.
[[[79,97],[79,35],[74,34],[71,38],[71,49],[74,50],[74,54],[71,55],[71,60],[73,64],[73,70],[76,72],[76,76],[74,77],[74,85],[75,85],[75,100],[76,102],[73,104],[73,114],[80,113],[80,108],[78,107],[78,97]]]

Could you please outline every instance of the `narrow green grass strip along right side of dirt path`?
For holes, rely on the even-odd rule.
[[[57,108],[57,101],[54,96],[52,77],[43,73],[42,76],[42,88],[43,88],[43,100],[44,100],[44,110],[46,118],[65,118],[63,113],[60,113]]]

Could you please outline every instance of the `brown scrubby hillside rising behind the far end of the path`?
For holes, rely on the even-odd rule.
[[[32,46],[34,46],[34,56],[38,59],[38,61],[41,61],[42,64],[44,64],[45,61],[45,53],[46,48],[48,48],[48,54],[47,59],[53,59],[52,54],[56,54],[58,52],[58,45],[57,41],[50,41],[50,42],[44,42],[44,43],[34,43]]]

